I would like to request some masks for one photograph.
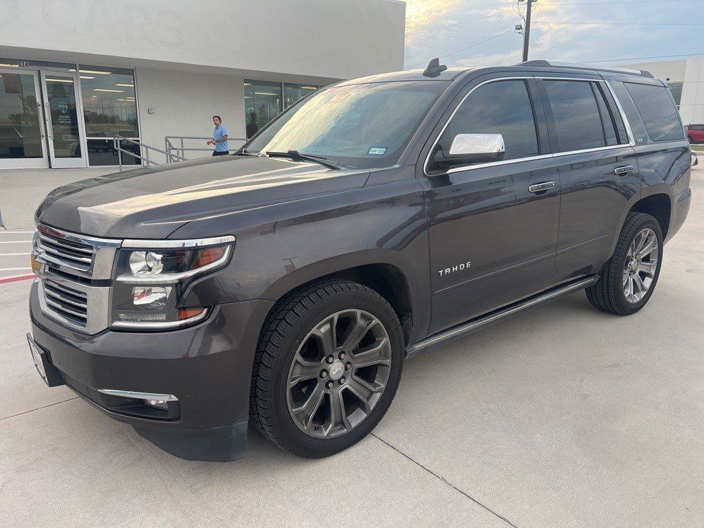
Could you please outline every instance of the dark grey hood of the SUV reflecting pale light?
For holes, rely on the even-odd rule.
[[[208,215],[363,187],[368,170],[218,156],[91,178],[51,191],[37,221],[96,237],[161,239]]]

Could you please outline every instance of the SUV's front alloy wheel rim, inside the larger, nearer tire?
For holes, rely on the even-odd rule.
[[[364,310],[329,315],[298,347],[287,378],[294,423],[308,436],[333,438],[370,415],[391,373],[391,341]]]

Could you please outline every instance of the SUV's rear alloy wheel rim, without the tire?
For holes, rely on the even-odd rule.
[[[638,303],[646,296],[658,269],[658,237],[646,227],[629,246],[623,270],[623,293],[629,303]]]

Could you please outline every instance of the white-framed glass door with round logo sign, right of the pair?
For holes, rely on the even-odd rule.
[[[77,74],[42,70],[42,87],[51,167],[87,167]]]

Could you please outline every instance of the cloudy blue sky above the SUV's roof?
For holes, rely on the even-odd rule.
[[[523,36],[514,27],[524,4],[406,0],[405,68],[436,56],[448,66],[520,62]],[[704,0],[537,0],[532,18],[529,59],[617,65],[704,54]]]

